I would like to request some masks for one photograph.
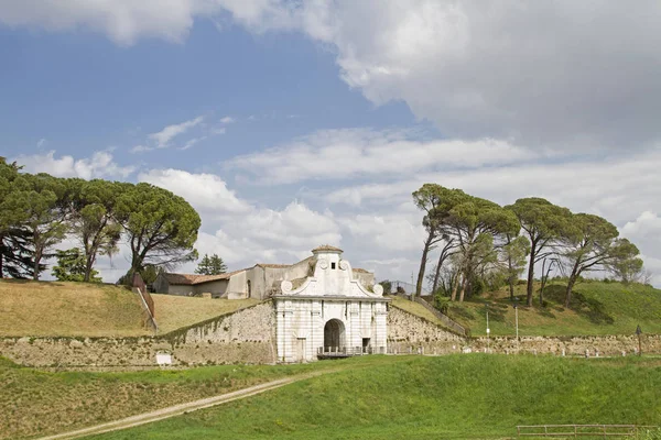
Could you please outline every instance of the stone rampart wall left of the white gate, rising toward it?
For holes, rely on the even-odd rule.
[[[273,363],[271,301],[154,338],[0,338],[0,355],[26,366],[155,366]]]

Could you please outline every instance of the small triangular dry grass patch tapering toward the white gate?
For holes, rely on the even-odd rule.
[[[212,299],[152,294],[159,331],[166,333],[220,315],[253,306],[258,299]]]

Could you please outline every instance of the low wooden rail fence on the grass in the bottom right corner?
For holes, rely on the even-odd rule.
[[[637,425],[530,425],[518,426],[518,437],[633,437],[659,427]]]

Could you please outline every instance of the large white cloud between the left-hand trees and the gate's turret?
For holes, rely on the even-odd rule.
[[[330,211],[318,212],[296,201],[282,210],[259,208],[239,198],[216,175],[152,169],[138,178],[185,198],[203,219],[198,252],[217,253],[234,268],[259,262],[293,263],[319,244],[342,242],[340,226]],[[194,267],[188,264],[181,271]]]

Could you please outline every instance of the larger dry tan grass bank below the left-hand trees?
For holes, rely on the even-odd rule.
[[[111,285],[3,279],[0,316],[3,337],[148,334],[137,295]]]

